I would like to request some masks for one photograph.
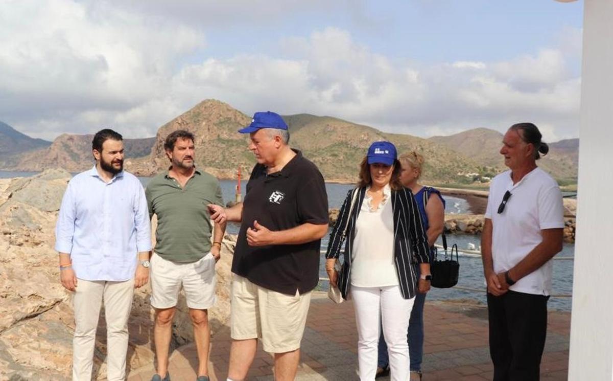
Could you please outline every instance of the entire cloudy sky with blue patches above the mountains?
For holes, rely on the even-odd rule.
[[[0,0],[0,121],[154,136],[215,98],[447,135],[577,137],[582,1]]]

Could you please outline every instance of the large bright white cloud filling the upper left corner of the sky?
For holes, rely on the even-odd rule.
[[[172,58],[204,41],[194,29],[102,2],[95,9],[64,0],[2,2],[0,115],[28,131],[45,126],[34,134],[41,137],[96,131],[163,98]]]

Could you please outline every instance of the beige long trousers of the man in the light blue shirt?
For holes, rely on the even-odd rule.
[[[77,291],[74,295],[72,381],[91,381],[96,328],[103,300],[107,323],[107,380],[126,379],[128,317],[133,296],[134,279],[125,282],[77,280]]]

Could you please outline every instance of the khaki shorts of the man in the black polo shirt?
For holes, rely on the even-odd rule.
[[[282,294],[234,274],[230,313],[232,339],[262,339],[262,346],[269,353],[297,350],[307,323],[310,301],[311,292]]]

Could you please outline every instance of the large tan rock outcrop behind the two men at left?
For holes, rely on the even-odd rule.
[[[0,380],[69,380],[74,315],[72,293],[61,287],[53,250],[57,212],[70,174],[49,170],[27,179],[0,180]],[[218,276],[213,334],[229,318],[230,263],[235,237],[226,236]],[[128,370],[151,364],[150,286],[135,291],[129,320]],[[94,378],[106,377],[104,309],[96,337]],[[185,298],[173,325],[176,347],[192,340]]]

